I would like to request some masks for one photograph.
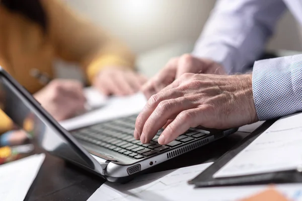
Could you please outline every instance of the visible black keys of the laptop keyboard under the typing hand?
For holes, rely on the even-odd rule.
[[[192,142],[206,136],[206,133],[189,129],[169,144],[160,145],[157,140],[163,132],[163,129],[161,129],[150,143],[142,144],[133,137],[136,117],[137,115],[133,115],[100,123],[71,133],[80,141],[92,143],[134,159],[152,156],[182,145],[183,143]]]

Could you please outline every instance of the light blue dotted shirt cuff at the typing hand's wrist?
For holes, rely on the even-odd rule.
[[[260,121],[302,110],[302,55],[256,61],[252,80]]]

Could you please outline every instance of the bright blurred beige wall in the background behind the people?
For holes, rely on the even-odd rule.
[[[214,0],[63,0],[140,53],[163,44],[195,41]],[[286,13],[269,49],[302,50],[295,20]]]

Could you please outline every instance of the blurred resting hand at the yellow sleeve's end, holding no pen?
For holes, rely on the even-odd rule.
[[[139,91],[146,78],[132,70],[108,67],[95,77],[93,85],[106,95],[129,95]]]

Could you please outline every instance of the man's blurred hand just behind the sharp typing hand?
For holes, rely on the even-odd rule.
[[[193,57],[184,54],[171,59],[166,66],[147,83],[142,91],[147,98],[159,92],[184,73],[225,74],[222,66],[209,59]]]

